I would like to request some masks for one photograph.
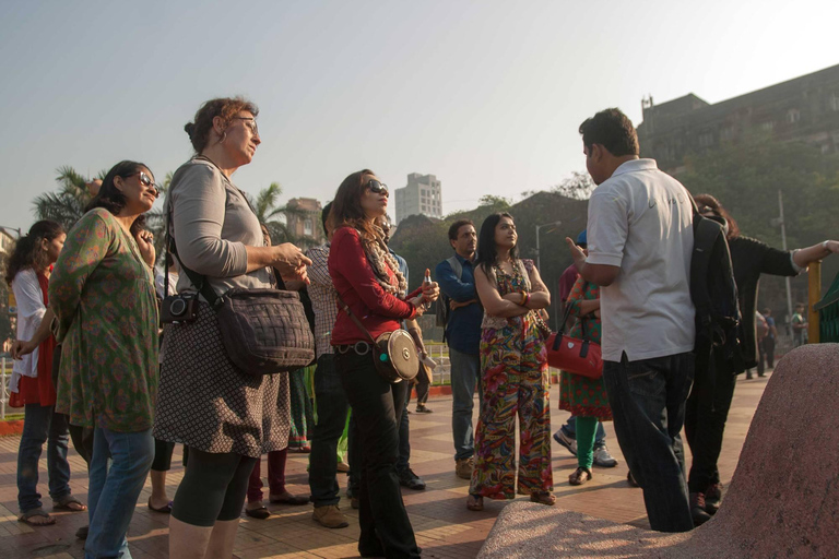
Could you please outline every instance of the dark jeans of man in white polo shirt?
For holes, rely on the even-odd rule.
[[[692,353],[621,362],[603,361],[603,381],[615,433],[629,471],[643,489],[650,527],[694,527],[685,484],[680,431],[694,379]]]

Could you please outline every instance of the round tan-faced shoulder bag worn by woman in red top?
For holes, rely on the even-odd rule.
[[[353,314],[353,311],[350,310],[350,307],[341,296],[335,294],[335,298],[341,309],[350,316],[350,319],[355,322],[358,330],[364,332],[367,338],[369,338],[370,347],[373,347],[373,360],[376,364],[378,373],[391,384],[402,382],[403,380],[413,380],[417,372],[420,372],[420,357],[416,355],[416,345],[411,334],[402,329],[398,329],[393,332],[385,332],[374,340],[370,331]]]

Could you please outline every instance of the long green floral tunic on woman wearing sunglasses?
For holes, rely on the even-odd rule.
[[[91,210],[68,234],[49,302],[62,344],[56,411],[72,425],[150,429],[157,392],[154,275],[107,210]]]

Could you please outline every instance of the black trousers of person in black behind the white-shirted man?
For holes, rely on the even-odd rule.
[[[704,364],[699,361],[697,367]],[[685,438],[694,456],[687,477],[692,493],[706,492],[708,486],[720,483],[717,461],[736,383],[736,376],[728,372],[719,352],[712,354],[706,367],[707,372],[697,369],[685,409]]]

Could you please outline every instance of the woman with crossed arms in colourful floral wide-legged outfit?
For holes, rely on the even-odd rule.
[[[519,417],[518,492],[554,504],[551,495],[551,412],[547,354],[536,311],[551,294],[529,260],[517,258],[512,216],[494,214],[481,226],[475,286],[484,306],[481,329],[483,400],[475,429],[475,467],[466,508],[515,497],[516,416]]]

